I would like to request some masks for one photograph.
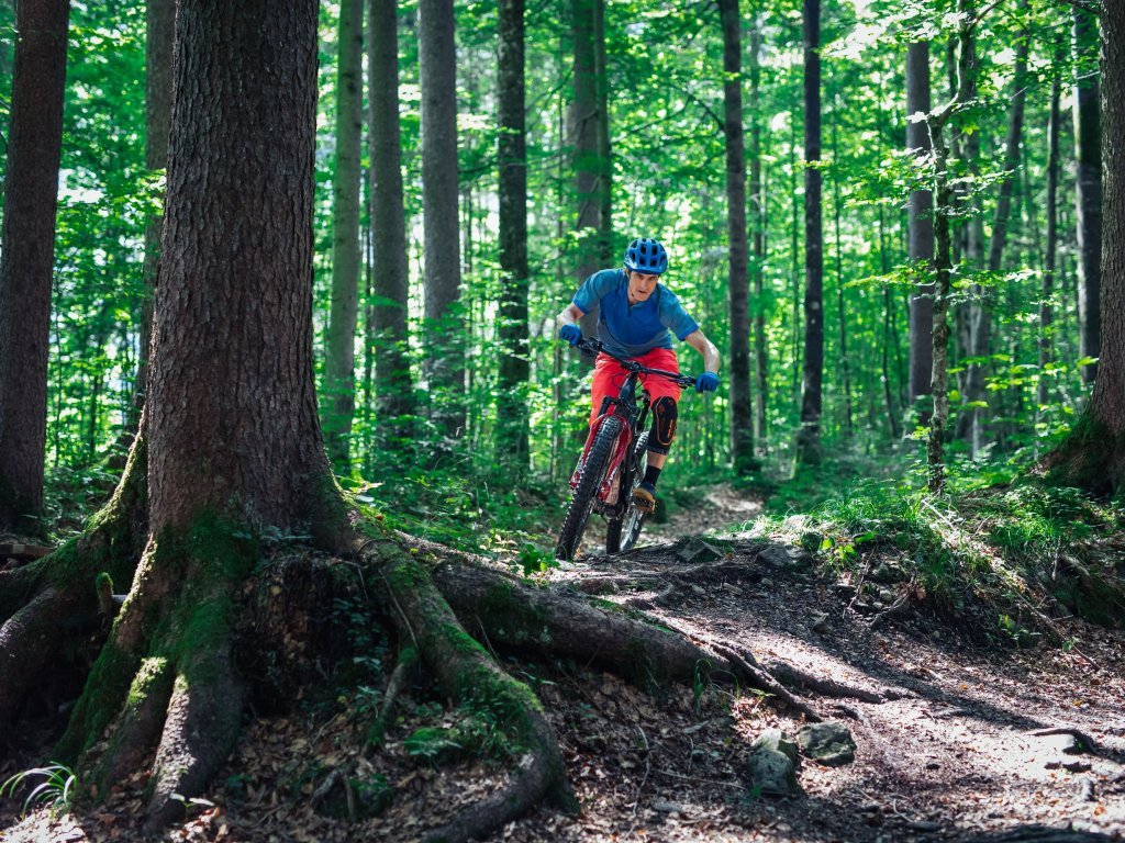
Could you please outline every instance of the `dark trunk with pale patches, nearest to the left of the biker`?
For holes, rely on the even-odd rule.
[[[500,393],[496,459],[528,465],[528,154],[524,121],[523,0],[501,0],[497,40],[500,99]],[[513,400],[513,396],[515,399]]]

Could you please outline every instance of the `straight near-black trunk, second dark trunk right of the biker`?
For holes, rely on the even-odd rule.
[[[825,369],[824,230],[820,208],[820,0],[804,0],[804,382],[798,459],[820,451]]]

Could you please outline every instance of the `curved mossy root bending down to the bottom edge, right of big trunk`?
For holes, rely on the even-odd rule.
[[[506,785],[430,832],[426,840],[459,843],[485,837],[544,798],[573,804],[558,741],[534,692],[504,672],[465,632],[417,559],[393,541],[368,544],[367,551],[362,544],[357,542],[354,550],[381,572],[399,635],[417,647],[443,694],[488,718],[512,746],[514,763]]]

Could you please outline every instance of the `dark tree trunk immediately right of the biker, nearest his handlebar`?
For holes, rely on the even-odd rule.
[[[720,0],[724,132],[727,136],[727,237],[730,266],[730,447],[735,471],[754,468],[750,406],[749,266],[746,242],[746,151],[742,137],[742,20],[738,0]]]

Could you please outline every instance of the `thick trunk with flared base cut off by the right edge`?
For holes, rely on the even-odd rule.
[[[1106,3],[1101,27],[1101,356],[1090,404],[1042,468],[1061,483],[1120,493],[1125,483],[1125,4]]]

